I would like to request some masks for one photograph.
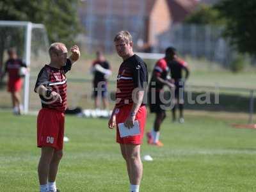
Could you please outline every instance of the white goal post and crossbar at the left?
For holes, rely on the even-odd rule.
[[[47,44],[48,38],[47,33],[44,27],[44,24],[34,24],[32,22],[24,22],[24,21],[11,21],[11,20],[0,20],[0,27],[8,27],[8,28],[24,28],[24,55],[23,55],[23,61],[26,63],[26,65],[29,67],[31,62],[31,37],[32,37],[32,30],[33,29],[40,29],[44,31],[45,34],[45,41]],[[13,29],[15,30],[15,29]],[[24,77],[24,113],[28,113],[29,111],[29,78],[30,73],[27,73]]]

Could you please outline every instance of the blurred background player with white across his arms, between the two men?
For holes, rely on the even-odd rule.
[[[102,52],[96,52],[96,60],[93,61],[91,72],[93,73],[93,98],[95,108],[100,108],[100,98],[102,99],[103,109],[108,108],[108,77],[112,72],[108,61]]]

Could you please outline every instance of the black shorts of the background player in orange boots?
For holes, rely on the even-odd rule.
[[[164,103],[160,99],[160,92],[148,92],[148,104],[150,113],[161,113],[166,109]]]

